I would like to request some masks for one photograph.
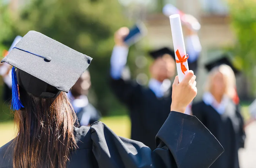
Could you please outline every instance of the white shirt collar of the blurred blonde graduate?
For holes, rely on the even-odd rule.
[[[227,102],[228,102],[228,97],[224,95],[222,97],[222,100],[220,103],[216,101],[214,96],[210,92],[205,92],[203,94],[203,101],[206,105],[212,106],[219,114],[223,114],[226,110]]]

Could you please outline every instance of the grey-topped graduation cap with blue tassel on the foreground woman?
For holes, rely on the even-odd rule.
[[[68,92],[92,58],[41,33],[29,31],[1,61],[12,65],[12,109],[19,110],[17,82],[27,92],[55,98]],[[15,72],[15,68],[17,71]]]

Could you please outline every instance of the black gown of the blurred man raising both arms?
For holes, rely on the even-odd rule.
[[[168,117],[171,104],[171,88],[162,98],[146,87],[133,81],[111,79],[111,88],[129,109],[131,118],[131,139],[141,141],[156,149],[155,136]]]

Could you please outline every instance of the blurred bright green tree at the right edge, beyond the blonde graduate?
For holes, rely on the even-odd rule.
[[[256,1],[229,0],[231,24],[236,36],[234,57],[256,93]],[[253,93],[253,92],[252,92]]]

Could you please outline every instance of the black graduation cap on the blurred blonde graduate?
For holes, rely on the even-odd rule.
[[[239,74],[240,71],[235,68],[233,66],[233,64],[231,63],[231,61],[228,59],[227,56],[221,57],[219,59],[216,59],[212,62],[209,62],[205,65],[205,68],[207,69],[207,71],[211,71],[214,67],[220,66],[220,65],[228,65],[229,67],[231,67],[231,69],[234,71],[235,75]]]

